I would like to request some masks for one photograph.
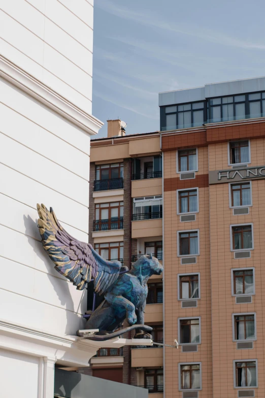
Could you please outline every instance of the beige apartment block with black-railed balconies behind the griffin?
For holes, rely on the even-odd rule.
[[[120,120],[109,120],[108,137],[91,141],[89,242],[105,259],[130,268],[145,253],[162,262],[162,157],[159,132],[126,136],[122,126]],[[153,275],[148,286],[145,323],[161,343],[161,275]],[[88,296],[91,311],[89,291]],[[90,374],[146,387],[162,398],[163,350],[101,349],[91,358]]]

